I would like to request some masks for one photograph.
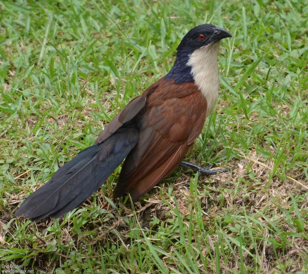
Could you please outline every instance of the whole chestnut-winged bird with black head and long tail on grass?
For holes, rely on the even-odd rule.
[[[124,159],[114,198],[129,193],[136,201],[178,165],[216,174],[217,170],[182,159],[217,102],[218,51],[221,40],[228,37],[232,37],[229,31],[213,24],[188,31],[176,49],[170,71],[132,99],[93,145],[31,193],[15,216],[32,221],[63,216],[97,191]]]

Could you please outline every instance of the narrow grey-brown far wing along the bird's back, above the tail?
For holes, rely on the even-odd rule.
[[[156,87],[163,81],[163,78],[156,81],[154,84],[150,85],[146,91],[136,98],[132,99],[123,110],[121,110],[105,127],[103,132],[95,140],[94,144],[99,144],[106,140],[112,133],[123,126],[124,123],[132,120],[142,110],[145,106],[147,93],[151,93]]]

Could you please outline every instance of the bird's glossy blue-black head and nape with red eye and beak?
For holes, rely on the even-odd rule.
[[[176,83],[194,81],[191,66],[187,65],[189,56],[199,48],[213,45],[227,37],[232,37],[229,31],[213,24],[202,24],[192,28],[177,47],[176,60],[165,78],[172,78]]]

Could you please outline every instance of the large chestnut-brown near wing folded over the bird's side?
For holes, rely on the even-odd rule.
[[[139,142],[124,161],[114,197],[137,199],[183,159],[204,121],[207,103],[193,83],[161,82],[147,93]]]

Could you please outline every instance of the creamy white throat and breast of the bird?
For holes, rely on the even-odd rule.
[[[195,50],[188,59],[187,65],[192,67],[191,73],[195,84],[205,97],[208,106],[206,115],[214,108],[218,99],[218,50],[220,41]]]

